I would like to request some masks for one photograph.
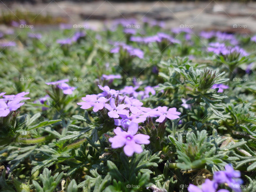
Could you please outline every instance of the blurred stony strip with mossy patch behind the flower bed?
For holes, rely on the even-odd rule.
[[[254,1],[57,1],[0,0],[0,30],[13,21],[47,30],[61,23],[88,25],[101,30],[106,21],[136,18],[163,21],[163,27],[219,30],[227,33],[256,32]]]

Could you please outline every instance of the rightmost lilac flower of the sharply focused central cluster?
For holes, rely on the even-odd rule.
[[[175,107],[170,108],[167,111],[167,107],[157,107],[157,110],[159,112],[159,118],[157,120],[155,120],[156,122],[163,122],[165,120],[165,118],[167,117],[168,119],[177,119],[179,118],[178,115],[180,115],[181,113],[177,111],[177,109]]]

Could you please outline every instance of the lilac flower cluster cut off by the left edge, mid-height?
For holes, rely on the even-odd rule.
[[[5,95],[5,93],[0,93],[0,117],[6,117],[11,111],[16,111],[24,105],[25,102],[20,103],[22,100],[30,99],[29,97],[24,97],[29,94],[29,92],[18,93],[17,95]]]

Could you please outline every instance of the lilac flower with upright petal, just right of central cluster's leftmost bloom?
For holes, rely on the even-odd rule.
[[[126,105],[121,104],[121,105],[116,106],[114,98],[110,99],[110,104],[105,103],[104,107],[109,110],[109,112],[107,114],[111,118],[118,118],[119,114],[129,115],[129,111],[124,109],[124,108],[126,108]]]

